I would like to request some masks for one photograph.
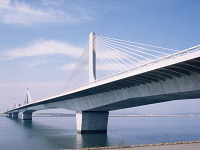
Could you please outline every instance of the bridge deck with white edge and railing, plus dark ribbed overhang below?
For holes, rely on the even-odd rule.
[[[173,79],[174,77],[190,76],[191,74],[199,73],[200,50],[199,46],[196,46],[10,111],[18,111],[32,106],[70,100],[127,87],[136,87],[147,83],[165,81],[166,79]]]

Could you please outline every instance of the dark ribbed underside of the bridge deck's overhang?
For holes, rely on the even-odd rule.
[[[77,92],[72,95],[59,97],[57,99],[52,100],[52,102],[114,91],[114,90],[122,89],[126,87],[135,87],[139,85],[145,85],[146,83],[158,82],[160,80],[165,81],[166,79],[172,79],[173,77],[190,76],[191,73],[200,74],[200,58],[196,58],[196,59],[189,60],[186,62],[181,62],[179,64],[167,66],[164,68],[159,68],[153,71],[145,72],[143,74],[135,75],[135,76],[121,79],[118,81],[114,81],[109,84],[96,86],[94,88]]]

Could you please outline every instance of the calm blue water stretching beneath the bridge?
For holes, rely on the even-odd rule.
[[[77,134],[75,117],[0,117],[0,149],[75,149],[200,140],[198,117],[109,117],[107,134]]]

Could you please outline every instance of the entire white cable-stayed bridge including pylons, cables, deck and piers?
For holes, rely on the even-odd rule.
[[[106,132],[109,111],[200,98],[200,46],[174,50],[95,35],[80,56],[65,91],[6,113],[22,119],[43,109],[76,111],[78,132]]]

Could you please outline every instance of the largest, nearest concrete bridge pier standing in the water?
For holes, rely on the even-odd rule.
[[[108,126],[107,111],[82,111],[76,113],[78,133],[106,133]]]

